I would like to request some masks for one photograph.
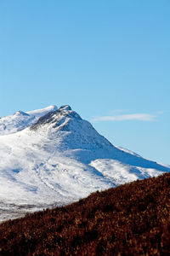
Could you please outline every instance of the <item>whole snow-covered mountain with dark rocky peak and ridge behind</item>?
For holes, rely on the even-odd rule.
[[[0,124],[5,120],[7,132],[0,131],[1,219],[170,171],[114,147],[68,105],[15,113]]]

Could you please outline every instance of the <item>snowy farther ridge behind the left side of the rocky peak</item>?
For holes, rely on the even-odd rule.
[[[21,131],[26,127],[33,125],[44,114],[57,110],[56,106],[37,109],[33,111],[18,111],[13,115],[8,115],[0,119],[0,136]]]

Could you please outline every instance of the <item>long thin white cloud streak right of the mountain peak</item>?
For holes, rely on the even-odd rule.
[[[156,115],[150,113],[128,113],[116,114],[108,116],[99,116],[92,119],[92,122],[97,121],[124,121],[124,120],[139,120],[139,121],[155,121]]]

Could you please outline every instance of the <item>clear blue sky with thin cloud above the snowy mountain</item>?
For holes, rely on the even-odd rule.
[[[0,116],[70,104],[170,164],[170,1],[0,0]]]

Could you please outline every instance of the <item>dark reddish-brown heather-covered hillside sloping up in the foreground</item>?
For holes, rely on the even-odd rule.
[[[170,255],[170,174],[0,225],[1,255]]]

